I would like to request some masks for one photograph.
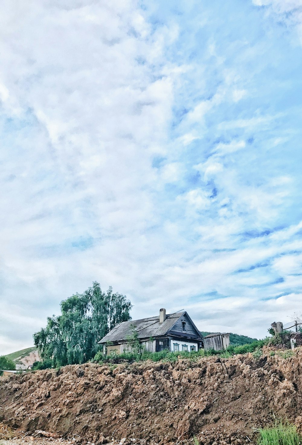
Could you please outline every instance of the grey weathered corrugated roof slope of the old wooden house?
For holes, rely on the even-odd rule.
[[[175,312],[174,314],[166,315],[163,323],[159,323],[159,316],[142,318],[141,320],[129,320],[117,324],[107,335],[105,335],[99,343],[107,343],[109,341],[127,340],[131,334],[131,327],[136,326],[138,338],[149,338],[165,335],[174,324],[177,322],[185,311]]]

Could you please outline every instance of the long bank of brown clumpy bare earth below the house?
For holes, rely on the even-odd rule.
[[[302,349],[289,358],[271,354],[17,375],[0,386],[0,420],[82,444],[179,443],[193,434],[201,444],[250,443],[273,411],[302,426]]]

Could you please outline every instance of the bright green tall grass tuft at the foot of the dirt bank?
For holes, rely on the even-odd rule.
[[[258,432],[258,445],[299,445],[302,442],[295,425],[288,422],[276,420],[273,427],[259,428]]]

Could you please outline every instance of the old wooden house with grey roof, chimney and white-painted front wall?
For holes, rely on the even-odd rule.
[[[150,352],[164,349],[169,351],[197,351],[203,348],[203,338],[195,324],[185,311],[166,314],[161,309],[156,317],[141,320],[124,321],[117,324],[99,342],[103,345],[104,354],[130,352],[132,344],[129,339],[136,332],[141,347]]]

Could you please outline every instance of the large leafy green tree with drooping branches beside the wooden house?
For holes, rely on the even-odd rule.
[[[76,293],[60,304],[61,315],[47,318],[46,328],[33,336],[34,343],[52,366],[85,363],[99,349],[101,340],[117,323],[131,320],[132,307],[125,295],[103,292],[93,282],[83,294]]]

